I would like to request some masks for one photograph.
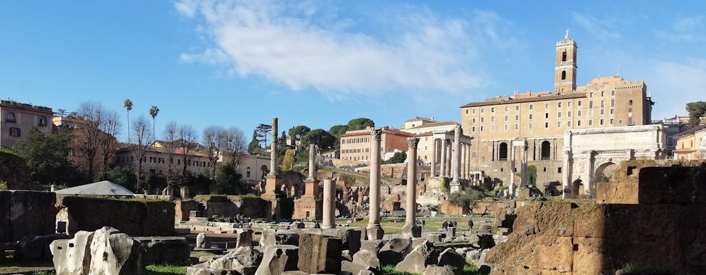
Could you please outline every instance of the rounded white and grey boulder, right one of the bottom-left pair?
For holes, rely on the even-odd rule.
[[[144,274],[143,248],[138,241],[117,229],[103,227],[90,243],[90,274]]]

